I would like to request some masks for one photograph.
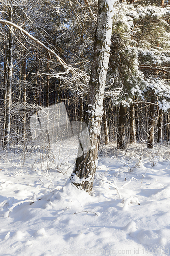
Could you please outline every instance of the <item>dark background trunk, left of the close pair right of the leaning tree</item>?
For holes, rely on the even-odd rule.
[[[120,103],[119,117],[118,117],[118,130],[117,130],[117,148],[125,150],[125,124],[126,124],[127,107]]]

